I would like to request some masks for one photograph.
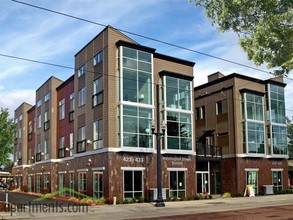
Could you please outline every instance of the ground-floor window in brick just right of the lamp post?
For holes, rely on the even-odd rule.
[[[169,171],[170,198],[185,198],[185,171]]]

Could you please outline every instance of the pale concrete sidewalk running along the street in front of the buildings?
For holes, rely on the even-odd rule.
[[[10,213],[0,212],[0,219],[136,219],[152,218],[187,213],[207,213],[215,211],[239,210],[276,205],[293,205],[293,194],[214,198],[209,200],[191,200],[165,202],[164,208],[157,208],[154,203],[135,203],[121,205],[89,206],[86,213]],[[293,211],[292,211],[293,216]]]

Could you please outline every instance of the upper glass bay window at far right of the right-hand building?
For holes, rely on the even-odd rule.
[[[284,87],[268,84],[267,90],[269,119],[273,123],[286,124]]]

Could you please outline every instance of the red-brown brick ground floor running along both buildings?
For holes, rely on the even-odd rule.
[[[229,158],[196,160],[194,155],[162,154],[164,199],[192,199],[197,193],[244,192],[253,185],[256,194],[263,185],[275,190],[288,187],[285,160]],[[99,199],[117,197],[157,198],[157,155],[151,153],[106,152],[75,158],[43,161],[13,168],[14,184],[36,193],[76,192]],[[63,190],[66,189],[66,190]]]

